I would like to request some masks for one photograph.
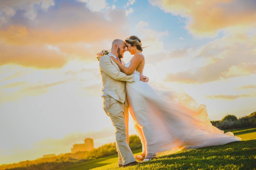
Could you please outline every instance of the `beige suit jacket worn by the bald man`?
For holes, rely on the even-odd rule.
[[[99,67],[103,83],[102,91],[129,107],[126,99],[125,82],[133,82],[134,74],[126,75],[122,73],[119,66],[110,58],[110,55],[100,58]]]

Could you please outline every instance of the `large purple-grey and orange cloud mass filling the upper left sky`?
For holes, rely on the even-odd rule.
[[[13,16],[0,25],[0,66],[15,63],[47,69],[63,67],[71,58],[95,60],[97,51],[127,32],[123,10],[92,12],[84,2],[11,2],[2,6]],[[51,8],[53,3],[58,8]],[[36,10],[33,20],[24,17],[25,6]]]

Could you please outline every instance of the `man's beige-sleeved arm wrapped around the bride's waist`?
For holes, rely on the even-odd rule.
[[[126,75],[121,71],[118,71],[117,68],[111,63],[109,57],[101,57],[99,60],[99,67],[101,70],[112,77],[115,80],[123,81],[123,82],[133,82],[134,74]]]

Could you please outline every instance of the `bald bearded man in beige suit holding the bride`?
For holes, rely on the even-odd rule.
[[[102,98],[103,109],[115,126],[115,143],[118,152],[119,167],[137,164],[129,147],[128,136],[128,101],[126,99],[125,82],[144,81],[147,77],[142,74],[126,75],[122,73],[118,65],[110,58],[113,56],[121,62],[126,45],[123,40],[116,39],[112,42],[111,53],[102,56],[99,60],[100,73],[103,83]]]

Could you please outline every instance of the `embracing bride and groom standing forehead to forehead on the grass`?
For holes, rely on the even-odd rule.
[[[123,53],[133,58],[125,63]],[[102,77],[103,109],[116,129],[115,139],[119,167],[156,158],[158,153],[177,152],[182,148],[200,148],[239,141],[233,133],[219,130],[210,123],[205,105],[184,92],[149,83],[143,75],[145,58],[141,40],[130,36],[116,39],[111,52],[99,55]],[[128,120],[142,143],[142,154],[135,158],[129,147]],[[166,152],[170,153],[170,152]],[[136,160],[135,160],[136,159]]]

